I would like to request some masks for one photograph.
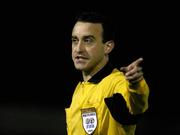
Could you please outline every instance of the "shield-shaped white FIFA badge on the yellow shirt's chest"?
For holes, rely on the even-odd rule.
[[[81,116],[84,130],[88,135],[92,134],[97,127],[96,109],[94,107],[81,109]]]

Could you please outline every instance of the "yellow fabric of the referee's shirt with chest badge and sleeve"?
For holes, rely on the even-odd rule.
[[[65,109],[68,135],[134,135],[136,125],[116,121],[104,101],[119,93],[131,114],[143,113],[148,108],[149,95],[145,80],[136,90],[129,86],[123,73],[117,69],[98,83],[79,82],[70,107]]]

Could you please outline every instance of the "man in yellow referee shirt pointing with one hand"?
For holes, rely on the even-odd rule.
[[[66,109],[68,135],[133,135],[148,108],[149,88],[139,63],[119,71],[109,61],[114,34],[107,19],[83,13],[72,30],[72,59],[82,80]],[[129,81],[128,81],[129,80]]]

